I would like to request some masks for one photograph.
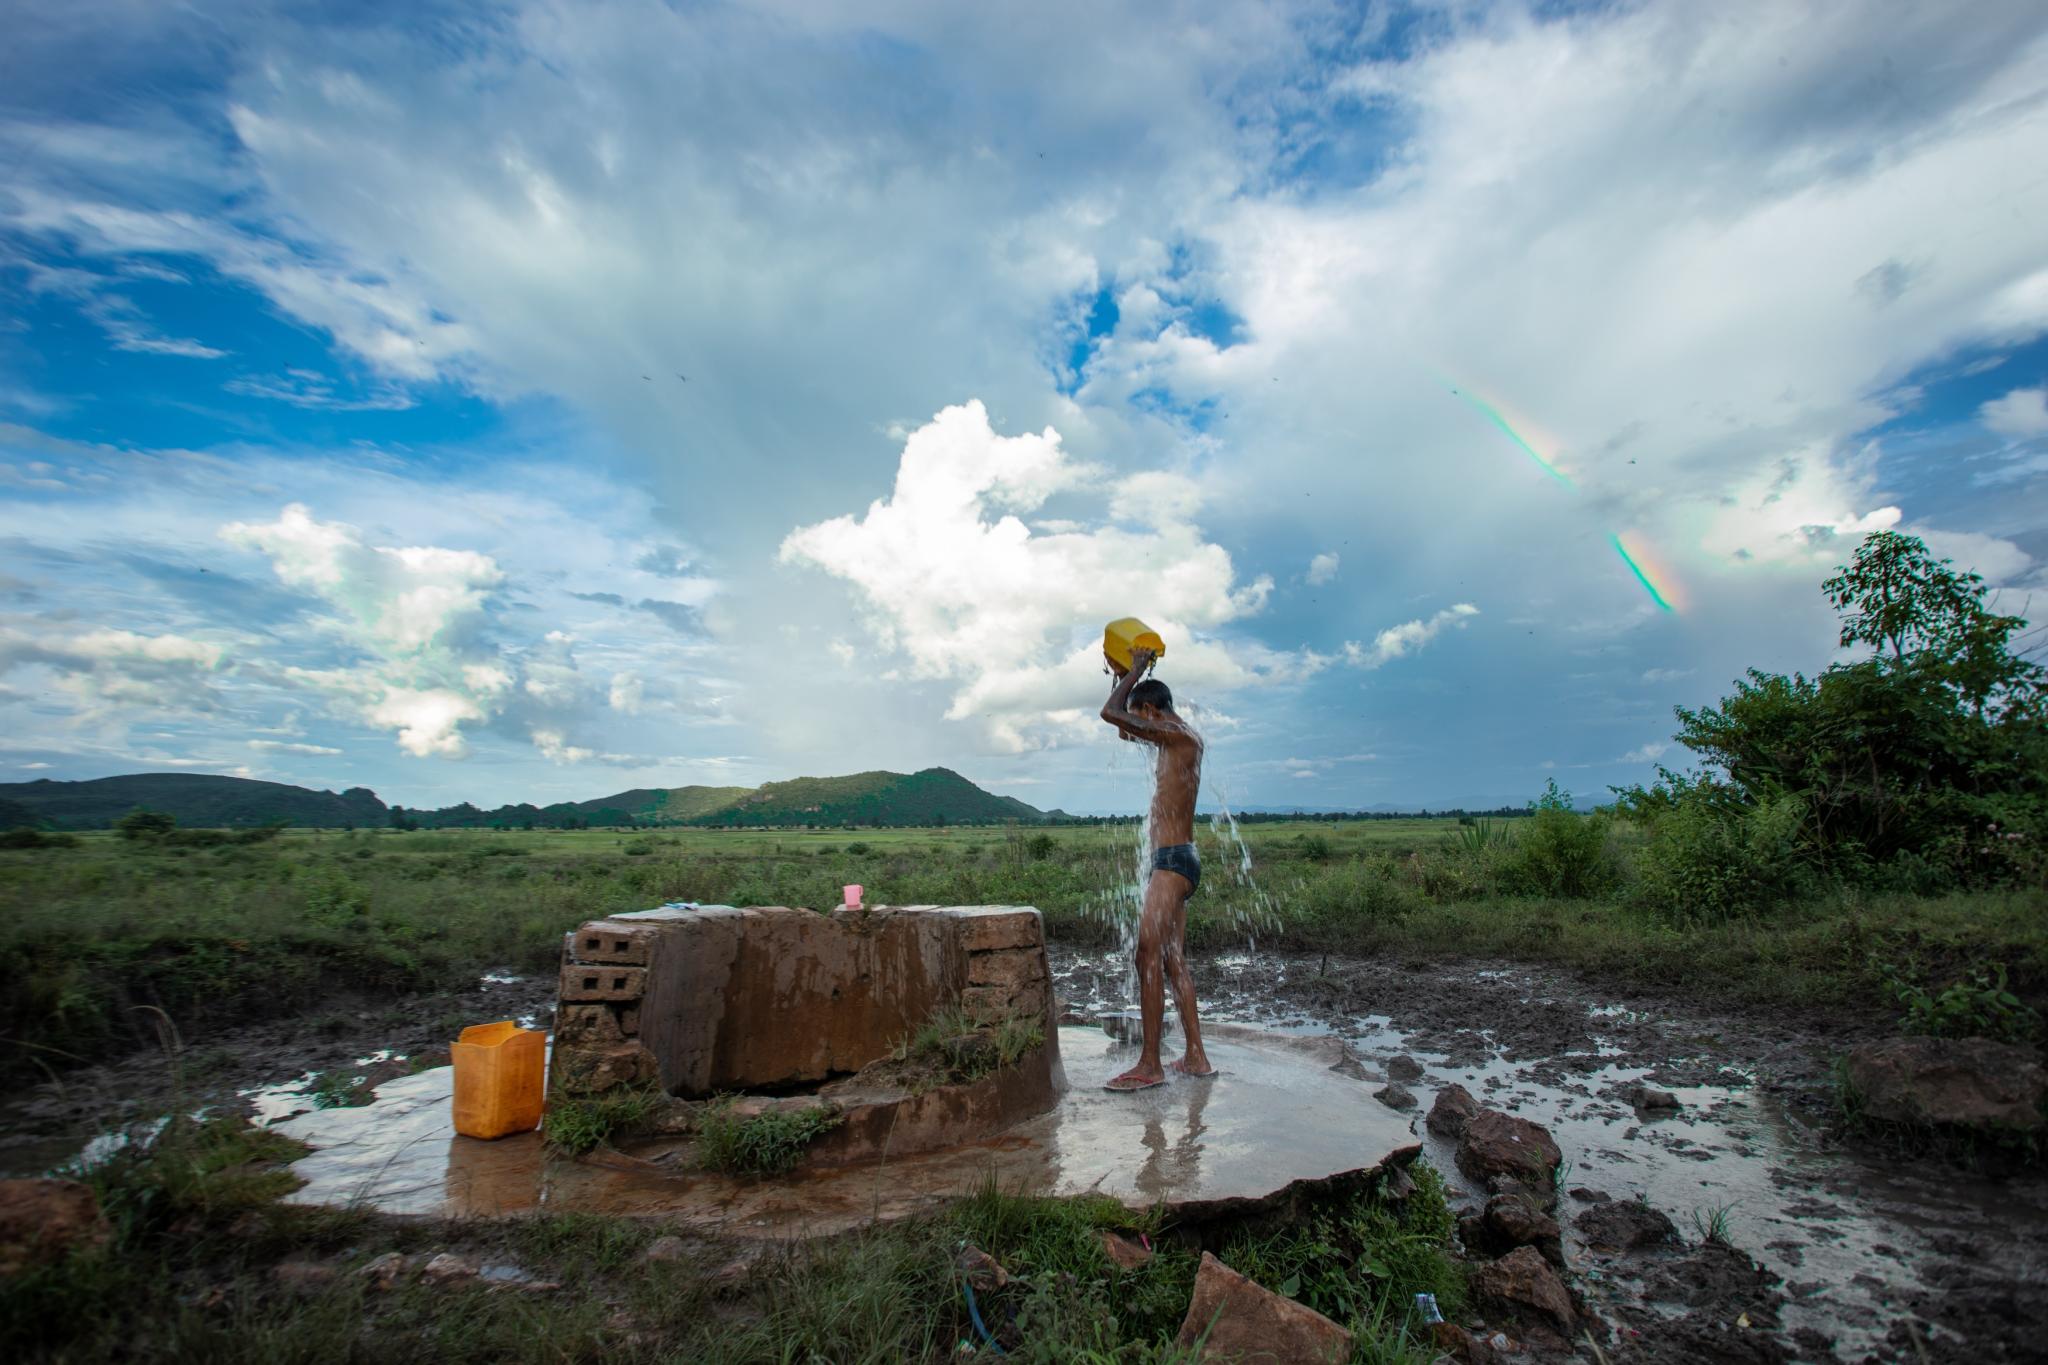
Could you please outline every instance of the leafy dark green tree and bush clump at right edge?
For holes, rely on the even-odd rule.
[[[1755,884],[1788,857],[1827,874],[1905,860],[1923,884],[1995,880],[1987,831],[2048,835],[2048,688],[2013,653],[2025,620],[1989,612],[1980,577],[1898,532],[1864,540],[1825,591],[1841,643],[1872,657],[1812,679],[1751,669],[1716,706],[1679,708],[1677,741],[1706,769],[1620,790],[1622,808],[1671,845],[1675,888],[1720,878],[1708,864],[1729,849],[1747,849]],[[1698,866],[1677,866],[1681,843]]]

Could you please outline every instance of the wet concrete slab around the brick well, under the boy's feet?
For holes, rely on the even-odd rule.
[[[293,1166],[305,1181],[297,1203],[440,1218],[592,1209],[776,1238],[903,1218],[989,1179],[1022,1193],[1092,1191],[1130,1205],[1251,1201],[1376,1166],[1415,1142],[1411,1119],[1372,1099],[1339,1042],[1239,1027],[1208,1036],[1221,1074],[1114,1095],[1102,1083],[1137,1052],[1098,1029],[1065,1027],[1069,1089],[1053,1111],[987,1142],[774,1181],[688,1169],[688,1146],[678,1142],[549,1160],[539,1134],[459,1138],[444,1066],[385,1083],[373,1105],[276,1128],[315,1148]]]

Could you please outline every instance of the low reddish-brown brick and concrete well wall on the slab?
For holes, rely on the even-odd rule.
[[[1038,1021],[1018,1066],[946,1095],[860,1087],[940,1009]],[[844,1115],[819,1160],[930,1150],[1040,1113],[1061,1085],[1044,927],[1030,907],[664,907],[567,935],[553,1085],[670,1095],[819,1093]]]

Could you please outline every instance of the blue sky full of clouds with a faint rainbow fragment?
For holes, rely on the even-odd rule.
[[[12,4],[0,780],[1597,794],[2048,589],[2044,223],[2025,0]]]

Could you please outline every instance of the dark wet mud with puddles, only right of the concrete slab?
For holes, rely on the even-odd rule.
[[[1481,1191],[1421,1121],[1452,1083],[1548,1128],[1563,1187],[1642,1199],[1694,1244],[1718,1216],[1761,1285],[1716,1277],[1679,1248],[1597,1252],[1571,1228],[1589,1203],[1563,1201],[1579,1287],[1620,1332],[1614,1359],[2048,1359],[2048,1179],[1884,1158],[1823,1128],[1833,1056],[1890,1031],[1886,1019],[1616,1005],[1507,964],[1225,954],[1196,972],[1204,1019],[1341,1040],[1370,1074],[1417,1064],[1405,1081],[1415,1136],[1470,1207]],[[1118,1007],[1122,976],[1114,954],[1055,958],[1069,1009]],[[1636,1109],[1628,1093],[1645,1083],[1679,1109]],[[1745,1314],[1751,1326],[1737,1328]],[[1700,1338],[1702,1326],[1726,1340]]]

